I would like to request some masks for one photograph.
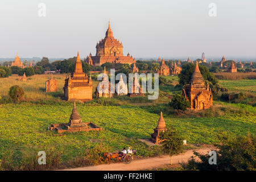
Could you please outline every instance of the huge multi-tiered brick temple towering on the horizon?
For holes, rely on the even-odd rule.
[[[96,56],[90,54],[85,61],[91,65],[102,65],[104,63],[133,64],[133,56],[130,56],[129,53],[127,56],[123,56],[123,44],[114,38],[109,22],[105,38],[101,39],[96,45]]]

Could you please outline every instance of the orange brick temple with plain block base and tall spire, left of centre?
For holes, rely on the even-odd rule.
[[[77,52],[75,71],[65,79],[63,88],[65,100],[90,101],[92,100],[92,88],[92,78],[88,78],[82,72],[82,62]]]

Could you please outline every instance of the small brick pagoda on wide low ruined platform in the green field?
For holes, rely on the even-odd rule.
[[[74,102],[72,114],[69,118],[69,123],[51,124],[49,130],[56,130],[57,133],[77,132],[77,131],[101,131],[102,128],[94,125],[92,122],[83,123],[82,119],[76,109],[76,102]]]

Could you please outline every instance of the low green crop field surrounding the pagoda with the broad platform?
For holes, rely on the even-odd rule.
[[[138,139],[150,138],[159,115],[149,113],[137,106],[86,106],[78,104],[77,109],[83,122],[93,122],[102,127],[101,132],[79,132],[57,134],[47,130],[51,123],[68,123],[73,105],[20,105],[0,106],[0,152],[19,150],[31,154],[52,148],[61,152],[65,162],[75,156],[82,156],[86,148],[104,143],[106,152],[118,151],[131,146],[138,155],[151,156],[154,150]],[[172,118],[164,117],[180,131],[188,143],[217,142],[217,134],[255,134],[255,114],[226,114],[224,117]],[[1,156],[0,156],[1,157]]]

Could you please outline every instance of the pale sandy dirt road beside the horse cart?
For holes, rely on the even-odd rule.
[[[207,154],[210,148],[201,148],[195,150],[201,154]],[[179,164],[181,162],[187,162],[188,159],[193,156],[193,150],[185,151],[184,154],[173,156],[172,164]],[[152,169],[163,167],[166,164],[170,164],[170,156],[164,155],[155,158],[133,160],[130,164],[114,163],[114,164],[101,164],[97,166],[80,167],[64,169],[65,171],[137,171],[143,169]]]

